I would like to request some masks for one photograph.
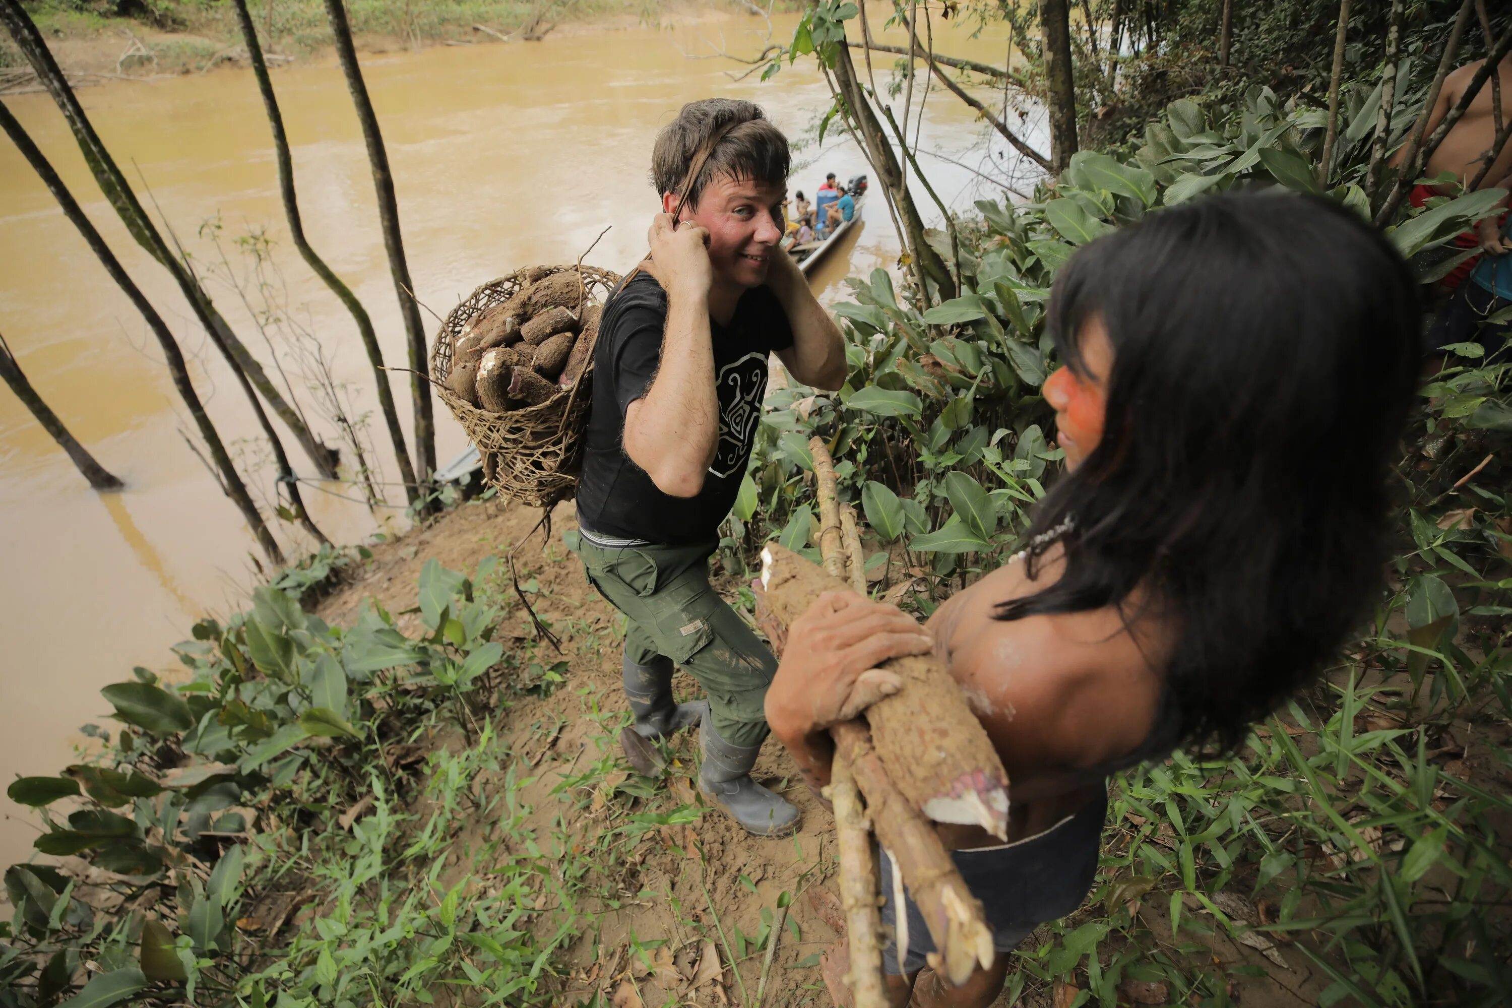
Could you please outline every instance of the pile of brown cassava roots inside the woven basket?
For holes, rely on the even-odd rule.
[[[452,349],[446,387],[491,413],[538,407],[588,366],[600,307],[578,271],[537,266],[513,298],[473,316]]]

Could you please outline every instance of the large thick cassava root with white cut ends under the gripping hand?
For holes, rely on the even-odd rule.
[[[776,543],[762,549],[762,586],[773,614],[791,626],[826,591],[850,585]],[[945,663],[930,654],[883,668],[903,688],[866,709],[877,754],[910,804],[936,822],[978,825],[1007,839],[1009,774]]]

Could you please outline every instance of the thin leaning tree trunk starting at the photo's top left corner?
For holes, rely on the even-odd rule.
[[[132,233],[132,237],[136,239],[138,245],[147,249],[153,258],[172,274],[178,289],[183,292],[184,299],[194,310],[195,317],[201,325],[204,325],[206,331],[210,332],[210,339],[230,354],[233,360],[233,370],[246,373],[251,384],[259,393],[262,393],[263,399],[268,400],[268,405],[274,408],[274,413],[278,414],[278,419],[284,422],[290,432],[293,432],[295,438],[310,456],[310,461],[314,462],[316,472],[328,479],[334,479],[337,452],[322,444],[314,434],[310,432],[308,425],[305,425],[298,410],[284,400],[278,387],[269,381],[262,364],[257,363],[257,358],[253,357],[253,354],[242,345],[231,326],[224,317],[221,317],[221,313],[216,311],[215,302],[210,301],[210,295],[207,295],[200,286],[194,272],[191,272],[189,267],[168,248],[168,242],[163,240],[163,236],[157,231],[151,218],[147,216],[147,212],[142,209],[141,201],[138,201],[130,183],[127,183],[125,175],[121,174],[121,169],[116,166],[110,153],[100,141],[94,125],[85,115],[83,106],[80,106],[79,100],[74,97],[73,88],[68,86],[68,80],[57,68],[57,62],[47,48],[47,42],[42,39],[41,32],[36,30],[36,24],[32,23],[32,18],[26,14],[18,0],[0,0],[0,21],[5,21],[6,29],[26,54],[32,70],[36,71],[42,86],[47,88],[53,101],[64,113],[64,119],[68,122],[70,130],[73,130],[74,139],[79,142],[79,150],[83,153],[85,162],[89,165],[89,171],[94,174],[95,181],[98,183],[106,199],[121,216],[127,231]]]

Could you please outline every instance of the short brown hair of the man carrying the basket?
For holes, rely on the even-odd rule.
[[[761,106],[733,98],[705,98],[685,104],[677,118],[656,135],[652,151],[652,181],[656,192],[680,192],[694,159],[715,135],[718,142],[688,189],[689,210],[699,206],[703,187],[717,175],[776,186],[788,183],[788,169],[792,166],[788,138],[773,125]]]

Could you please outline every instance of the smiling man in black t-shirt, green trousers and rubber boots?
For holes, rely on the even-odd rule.
[[[815,388],[847,373],[839,329],[777,246],[788,168],[786,138],[748,101],[692,101],[656,138],[664,213],[603,308],[578,484],[578,555],[629,620],[626,757],[655,774],[655,739],[702,722],[699,787],[756,836],[798,827],[750,777],[777,660],[709,586],[708,561],[745,476],[768,355]],[[674,703],[679,665],[708,700]]]

